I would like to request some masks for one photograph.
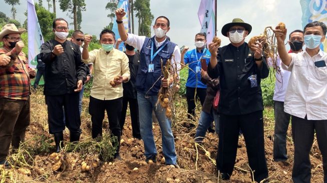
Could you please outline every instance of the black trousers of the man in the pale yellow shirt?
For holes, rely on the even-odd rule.
[[[91,114],[92,121],[92,138],[96,138],[98,135],[102,135],[102,124],[105,118],[105,111],[107,111],[109,129],[111,133],[118,138],[118,149],[120,145],[120,125],[119,119],[122,112],[122,100],[123,97],[112,100],[101,100],[90,96],[89,112]]]

